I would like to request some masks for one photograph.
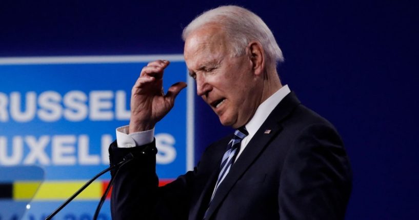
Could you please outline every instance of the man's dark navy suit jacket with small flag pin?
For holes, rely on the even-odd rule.
[[[111,164],[128,152],[137,159],[116,177],[113,219],[202,219],[230,138],[210,145],[193,171],[164,187],[157,187],[154,142],[131,149],[114,142]],[[290,93],[237,158],[206,219],[343,219],[351,186],[340,136]]]

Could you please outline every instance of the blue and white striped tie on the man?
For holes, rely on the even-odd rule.
[[[220,186],[221,182],[223,182],[224,178],[227,176],[227,173],[230,171],[231,166],[233,166],[236,155],[238,151],[240,151],[240,143],[242,142],[243,138],[245,138],[248,134],[249,133],[247,132],[244,126],[234,131],[233,138],[231,138],[230,142],[228,143],[227,150],[223,155],[223,159],[221,160],[220,174],[218,174],[217,183],[215,184],[215,188],[212,193],[208,207],[211,204],[212,199],[214,198],[218,186]],[[205,211],[204,219],[207,215],[207,211]]]

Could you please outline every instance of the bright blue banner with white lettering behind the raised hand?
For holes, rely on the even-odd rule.
[[[0,166],[35,165],[45,171],[23,219],[44,219],[109,166],[115,129],[129,123],[131,88],[141,69],[155,59],[171,61],[164,72],[166,91],[191,80],[182,55],[1,59]],[[155,128],[161,184],[193,167],[193,83],[188,85]],[[54,219],[91,219],[109,179],[109,174],[99,178]],[[0,200],[22,201],[34,188],[30,183],[0,178],[0,185],[11,190]],[[6,216],[0,213],[0,219]],[[109,199],[99,219],[111,219]]]

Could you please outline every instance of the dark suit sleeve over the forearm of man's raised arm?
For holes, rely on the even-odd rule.
[[[147,153],[141,152],[150,149]],[[135,219],[144,216],[150,219],[153,209],[154,194],[158,187],[155,174],[155,141],[151,144],[133,148],[118,148],[116,141],[109,147],[111,166],[123,161],[128,153],[134,155],[134,160],[119,168],[112,189],[111,212],[112,219]],[[115,176],[115,171],[111,172]]]

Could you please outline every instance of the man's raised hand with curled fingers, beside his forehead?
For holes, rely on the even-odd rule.
[[[154,128],[172,109],[177,94],[186,87],[186,83],[178,82],[164,94],[163,71],[168,65],[169,61],[153,61],[141,71],[131,90],[129,133]]]

